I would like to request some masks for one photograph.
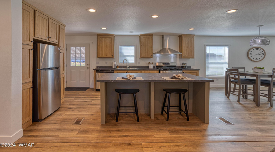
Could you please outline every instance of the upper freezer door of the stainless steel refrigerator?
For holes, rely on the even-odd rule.
[[[35,44],[37,69],[60,67],[60,47],[38,43]]]

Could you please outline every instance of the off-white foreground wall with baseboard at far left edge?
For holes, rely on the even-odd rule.
[[[0,143],[13,143],[22,129],[22,1],[0,1]]]

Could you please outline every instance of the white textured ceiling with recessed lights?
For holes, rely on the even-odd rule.
[[[66,35],[257,36],[256,26],[265,25],[261,35],[275,36],[275,0],[25,1],[64,23]],[[88,8],[97,12],[88,12]],[[239,11],[225,13],[230,9]],[[150,18],[151,15],[160,17]]]

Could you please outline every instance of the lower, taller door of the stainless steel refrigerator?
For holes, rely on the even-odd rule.
[[[44,119],[61,106],[60,67],[38,70],[38,119]]]

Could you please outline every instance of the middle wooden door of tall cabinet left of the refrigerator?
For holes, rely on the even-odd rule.
[[[32,83],[32,45],[22,45],[22,83]]]

